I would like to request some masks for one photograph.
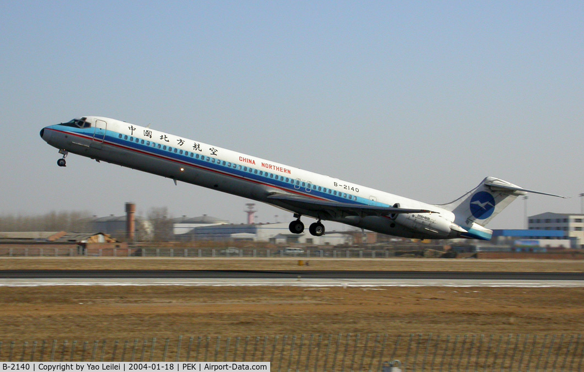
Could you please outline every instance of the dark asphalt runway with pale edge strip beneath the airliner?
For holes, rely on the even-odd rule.
[[[575,272],[3,270],[0,286],[580,287]],[[372,288],[373,289],[373,288]]]

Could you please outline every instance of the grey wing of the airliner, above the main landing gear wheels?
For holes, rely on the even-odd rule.
[[[329,200],[319,200],[306,198],[300,195],[280,194],[274,193],[267,197],[268,199],[275,199],[283,201],[291,206],[305,210],[313,210],[315,212],[328,212],[331,210],[338,212],[345,212],[349,215],[356,216],[389,216],[397,213],[437,213],[428,209],[407,209],[394,208],[391,206],[374,206],[374,205],[356,205],[352,203],[341,203]],[[334,213],[332,213],[334,214]]]

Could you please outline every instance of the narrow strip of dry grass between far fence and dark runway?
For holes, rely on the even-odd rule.
[[[308,266],[298,266],[298,260]],[[584,261],[426,258],[0,258],[0,269],[584,272]]]

